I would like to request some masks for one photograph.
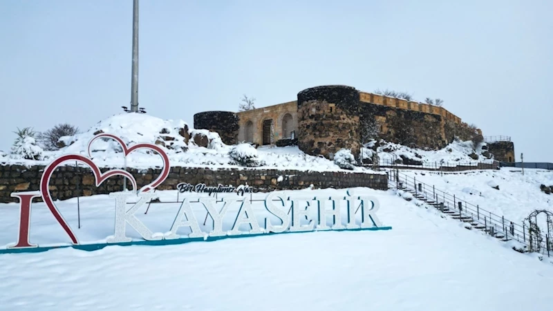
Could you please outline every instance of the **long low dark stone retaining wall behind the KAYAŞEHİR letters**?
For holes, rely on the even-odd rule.
[[[106,171],[107,169],[102,169]],[[0,202],[17,202],[10,197],[12,192],[37,191],[44,166],[24,167],[21,165],[0,166]],[[128,169],[142,187],[154,180],[160,169]],[[279,176],[283,177],[281,182]],[[317,172],[277,169],[200,169],[192,167],[171,167],[169,177],[158,187],[159,190],[176,189],[179,182],[191,184],[205,183],[207,186],[250,185],[260,191],[305,189],[309,185],[317,188],[369,187],[388,189],[388,180],[384,174]],[[114,176],[100,187],[94,186],[92,172],[84,167],[59,167],[50,180],[50,193],[54,200],[66,200],[77,196],[109,194],[121,191],[123,178]],[[130,185],[127,183],[129,189]]]

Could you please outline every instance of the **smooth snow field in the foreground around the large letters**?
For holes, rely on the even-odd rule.
[[[4,310],[552,310],[553,266],[545,259],[518,254],[393,191],[355,190],[378,198],[377,215],[392,230],[1,254],[0,305]],[[162,201],[176,198],[176,191],[160,193]],[[293,193],[345,195],[334,189]],[[74,228],[75,203],[57,203]],[[254,203],[256,211],[263,209],[260,204]],[[113,207],[107,196],[82,198],[79,239],[103,241],[113,234]],[[177,209],[158,204],[147,215],[137,214],[153,231],[164,231]],[[194,210],[203,221],[205,209]],[[16,238],[17,205],[0,205],[0,218],[0,244],[6,245]],[[42,203],[33,205],[31,226],[31,241],[66,242]],[[132,229],[128,235],[138,236]]]

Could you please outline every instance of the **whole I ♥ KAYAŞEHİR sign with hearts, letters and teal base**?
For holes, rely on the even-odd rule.
[[[129,153],[139,149],[149,149],[156,151],[163,160],[163,169],[160,176],[153,180],[149,185],[137,190],[137,183],[133,176],[120,169],[112,169],[102,173],[100,168],[91,160],[91,144],[99,138],[111,138],[118,142],[122,149],[123,155],[126,157]],[[120,191],[109,194],[111,198],[115,199],[115,232],[113,236],[106,238],[106,243],[94,243],[94,244],[82,244],[77,240],[77,236],[71,226],[68,225],[62,214],[57,209],[55,202],[52,200],[49,190],[50,178],[53,176],[55,169],[64,162],[81,162],[88,165],[92,169],[95,176],[95,185],[99,186],[107,178],[111,176],[124,176],[128,178],[133,185],[133,191]],[[11,196],[19,198],[19,231],[17,242],[14,245],[8,246],[6,249],[0,249],[1,253],[13,253],[13,252],[44,252],[48,249],[60,248],[60,247],[73,247],[76,249],[95,250],[106,247],[107,245],[168,245],[168,244],[180,244],[190,241],[214,241],[221,238],[228,238],[233,236],[253,236],[259,234],[280,234],[285,232],[310,232],[317,230],[379,230],[379,229],[391,229],[391,227],[382,227],[376,211],[379,209],[379,203],[376,198],[369,196],[356,196],[348,191],[347,196],[324,196],[314,197],[306,196],[305,193],[301,195],[288,196],[283,192],[274,191],[265,197],[263,202],[264,209],[262,211],[256,211],[252,208],[251,198],[245,198],[244,193],[252,192],[253,189],[247,186],[223,186],[208,187],[204,184],[190,185],[186,183],[179,184],[178,190],[180,192],[196,192],[198,196],[187,196],[182,202],[180,202],[180,208],[178,209],[176,216],[174,217],[172,224],[167,222],[167,229],[169,230],[165,234],[153,233],[151,230],[142,223],[135,216],[135,212],[141,207],[156,198],[156,194],[153,193],[153,189],[156,189],[169,175],[169,157],[167,153],[155,144],[135,144],[132,147],[127,147],[123,140],[115,135],[108,133],[101,133],[96,135],[88,143],[88,157],[68,154],[60,156],[53,162],[48,164],[44,169],[44,173],[40,182],[39,191],[26,191],[15,192]],[[221,200],[216,200],[212,197],[213,193],[234,193],[241,194],[242,196],[226,196]],[[201,193],[207,193],[210,196],[200,196]],[[37,244],[29,241],[30,234],[30,217],[31,217],[31,205],[32,198],[41,197],[46,204],[46,207],[53,214],[57,223],[64,229],[64,232],[71,239],[71,244],[55,246],[55,247],[39,247]],[[128,208],[127,201],[130,199],[138,198],[130,209]],[[290,207],[287,207],[290,202]],[[192,204],[203,205],[213,222],[211,229],[206,232],[200,228],[200,224],[196,219],[196,215],[191,208]],[[223,229],[223,218],[229,213],[229,207],[239,206],[236,215],[233,216],[234,223],[230,230]],[[330,207],[330,209],[327,209]],[[284,208],[284,209],[283,209]],[[285,209],[288,209],[286,211]],[[308,219],[311,214],[316,211],[317,216]],[[345,218],[342,211],[344,211]],[[360,215],[357,213],[360,211]],[[259,213],[263,213],[263,227],[258,223],[257,217]],[[257,214],[257,215],[256,215]],[[358,217],[360,216],[360,217]],[[206,216],[207,217],[207,216]],[[330,225],[327,218],[331,218]],[[303,220],[303,224],[302,224]],[[129,225],[140,234],[142,240],[133,240],[126,236],[126,226]],[[204,224],[205,225],[205,224]],[[242,231],[240,228],[243,225],[247,225],[250,229]],[[182,227],[188,227],[190,234],[187,236],[180,236],[177,234],[178,229]],[[204,226],[205,229],[205,226]]]

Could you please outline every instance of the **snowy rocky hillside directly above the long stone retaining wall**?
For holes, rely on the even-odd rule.
[[[24,160],[8,154],[0,154],[4,164],[48,164],[53,158],[66,154],[87,154],[88,142],[97,133],[120,136],[129,145],[148,142],[164,147],[172,166],[207,167],[212,169],[238,167],[229,158],[231,146],[221,142],[217,133],[189,129],[182,120],[162,120],[151,115],[122,113],[98,122],[88,131],[61,138],[66,147],[59,151],[44,151],[41,160]],[[197,136],[196,139],[194,139]],[[205,144],[200,146],[199,144]],[[94,162],[100,167],[123,167],[122,149],[113,140],[97,140],[91,146]],[[339,171],[334,162],[321,157],[309,156],[298,147],[259,147],[259,164],[265,169],[299,169],[310,171]],[[127,167],[149,168],[161,165],[159,156],[147,151],[136,151],[127,157]],[[355,171],[367,169],[356,167]]]

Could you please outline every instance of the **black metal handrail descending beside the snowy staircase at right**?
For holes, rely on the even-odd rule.
[[[433,185],[418,182],[414,176],[407,176],[405,173],[399,173],[398,171],[393,172],[393,174],[395,176],[388,179],[395,182],[398,189],[402,187],[411,189],[411,191],[415,191],[415,194],[420,194],[427,200],[431,198],[433,202],[444,203],[444,208],[458,212],[460,217],[470,216],[473,223],[484,225],[486,230],[490,227],[494,227],[494,231],[503,234],[505,238],[509,238],[510,236],[511,238],[516,238],[518,242],[525,244],[529,243],[529,236],[526,234],[528,228],[524,223],[523,225],[519,225],[518,223],[506,219],[504,216],[499,216],[491,211],[482,209],[479,205],[474,205],[465,200],[456,198],[454,194],[452,195],[446,191],[436,189]],[[459,203],[461,203],[460,206]],[[542,254],[546,254],[546,249],[549,246],[547,245],[547,237],[543,234],[541,234],[541,236],[542,242],[540,243],[540,251]]]

